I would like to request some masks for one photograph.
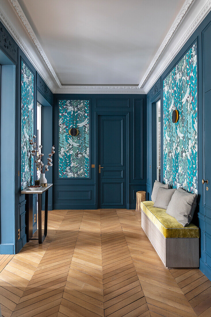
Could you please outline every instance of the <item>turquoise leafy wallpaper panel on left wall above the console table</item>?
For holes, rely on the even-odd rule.
[[[21,189],[33,182],[29,138],[34,134],[34,74],[21,62]]]

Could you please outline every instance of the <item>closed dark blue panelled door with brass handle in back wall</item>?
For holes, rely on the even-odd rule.
[[[99,115],[98,208],[126,208],[125,165],[126,117]]]

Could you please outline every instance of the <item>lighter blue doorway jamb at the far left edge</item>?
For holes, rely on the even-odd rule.
[[[6,212],[0,215],[0,251],[11,254],[15,231],[15,71],[14,65],[1,66],[1,210]]]

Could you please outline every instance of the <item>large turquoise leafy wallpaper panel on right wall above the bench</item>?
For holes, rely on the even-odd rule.
[[[172,112],[179,120],[172,122]],[[196,43],[163,81],[163,175],[173,188],[197,194]]]

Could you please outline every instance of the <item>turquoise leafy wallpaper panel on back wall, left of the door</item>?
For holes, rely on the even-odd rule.
[[[71,128],[79,134],[72,137]],[[59,100],[59,177],[89,177],[89,100]]]

